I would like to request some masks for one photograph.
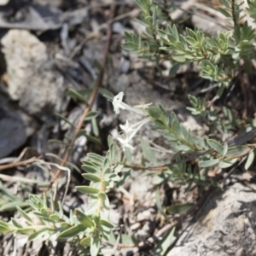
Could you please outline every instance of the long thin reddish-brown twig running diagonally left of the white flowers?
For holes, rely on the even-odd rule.
[[[113,20],[114,11],[115,11],[115,4],[113,4],[111,7],[111,17],[110,17],[111,20]],[[84,118],[85,118],[86,114],[89,113],[90,108],[92,107],[92,105],[96,99],[98,89],[99,89],[100,85],[102,84],[103,75],[104,75],[105,68],[106,68],[107,62],[108,62],[108,52],[109,52],[109,48],[110,48],[111,37],[112,37],[112,26],[109,25],[108,34],[107,34],[107,42],[106,42],[105,51],[104,51],[104,59],[102,61],[102,69],[96,79],[96,84],[95,84],[94,90],[92,91],[92,93],[90,95],[88,106],[84,109],[84,113],[81,115],[81,117],[79,119],[79,124],[77,125],[77,127],[73,133],[73,137],[72,137],[72,140],[70,143],[70,148],[73,148],[77,134],[79,133],[79,131],[81,130],[81,128],[84,124]],[[65,154],[64,159],[61,161],[60,166],[65,166],[67,164],[67,160],[69,159],[71,152],[72,152],[72,150],[67,150],[67,153]],[[49,184],[49,187],[47,189],[45,189],[44,192],[49,191],[52,184],[55,183],[56,179],[60,176],[60,174],[61,174],[61,170],[58,170],[55,173],[55,176],[52,178],[52,180]]]

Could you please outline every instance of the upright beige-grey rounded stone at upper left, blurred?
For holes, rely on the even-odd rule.
[[[10,30],[1,40],[7,64],[8,91],[27,113],[38,118],[58,112],[64,79],[47,54],[46,46],[30,32]]]

